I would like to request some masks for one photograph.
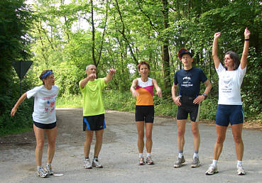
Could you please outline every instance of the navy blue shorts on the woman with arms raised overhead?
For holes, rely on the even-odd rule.
[[[244,111],[242,105],[222,105],[217,106],[216,124],[219,126],[229,126],[244,123]]]

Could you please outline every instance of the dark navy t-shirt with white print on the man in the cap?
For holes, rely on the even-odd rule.
[[[204,72],[192,67],[191,70],[179,70],[175,72],[174,84],[178,84],[178,94],[181,96],[197,97],[200,94],[200,82],[206,82]]]

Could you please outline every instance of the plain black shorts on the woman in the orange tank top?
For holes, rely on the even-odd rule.
[[[154,106],[136,106],[136,121],[154,122]]]

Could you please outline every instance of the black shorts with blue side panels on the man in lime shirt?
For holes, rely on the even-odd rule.
[[[104,113],[95,116],[83,117],[83,131],[100,131],[106,128]]]

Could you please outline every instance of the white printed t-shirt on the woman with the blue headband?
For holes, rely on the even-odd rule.
[[[58,96],[58,91],[59,88],[57,85],[53,85],[50,90],[42,85],[26,91],[28,99],[30,99],[31,96],[35,97],[32,115],[33,121],[44,124],[54,123],[56,121],[55,101]]]

